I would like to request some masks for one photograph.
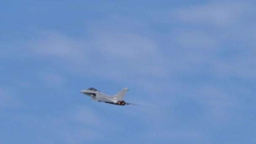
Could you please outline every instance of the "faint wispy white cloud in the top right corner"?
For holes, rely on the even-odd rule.
[[[184,23],[230,27],[247,19],[246,15],[253,7],[246,2],[216,1],[201,5],[192,5],[174,10],[174,16]]]

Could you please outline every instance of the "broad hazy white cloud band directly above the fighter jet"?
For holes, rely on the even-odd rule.
[[[98,77],[134,80],[133,75],[163,77],[168,74],[168,67],[160,65],[165,59],[153,40],[136,34],[96,32],[90,41],[47,34],[42,41],[34,41],[31,48],[40,56],[63,59],[62,64],[71,70]]]

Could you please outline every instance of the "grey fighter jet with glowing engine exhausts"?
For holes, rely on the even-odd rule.
[[[91,99],[94,101],[124,106],[125,104],[132,104],[132,103],[125,102],[123,100],[125,93],[127,91],[129,91],[128,88],[123,88],[120,92],[118,92],[117,94],[112,95],[112,96],[107,95],[103,92],[100,92],[100,91],[96,90],[95,88],[88,88],[88,89],[82,90],[80,92],[90,96]],[[136,105],[136,104],[133,104],[133,105]]]

